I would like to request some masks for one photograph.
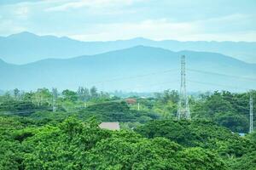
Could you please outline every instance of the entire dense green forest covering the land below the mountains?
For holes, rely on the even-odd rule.
[[[190,95],[192,120],[179,121],[178,98],[166,90],[124,99],[95,87],[7,92],[0,169],[256,169],[249,93]],[[119,122],[121,130],[101,122]]]

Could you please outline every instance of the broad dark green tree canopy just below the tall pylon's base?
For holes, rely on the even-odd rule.
[[[256,149],[253,142],[242,139],[224,127],[208,121],[152,121],[137,127],[137,133],[153,139],[165,137],[185,147],[217,150],[223,156],[243,156]]]

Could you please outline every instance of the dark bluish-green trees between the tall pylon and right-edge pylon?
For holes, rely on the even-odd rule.
[[[253,98],[256,98],[255,91]],[[193,116],[210,119],[219,125],[230,128],[233,132],[248,132],[249,94],[231,94],[230,92],[214,92],[203,95],[191,105]],[[254,109],[256,109],[254,105]],[[254,117],[255,120],[256,116]]]

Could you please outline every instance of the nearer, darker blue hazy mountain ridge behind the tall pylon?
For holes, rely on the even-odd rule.
[[[75,89],[93,85],[108,91],[152,92],[166,88],[178,89],[182,54],[186,55],[189,91],[236,91],[254,88],[256,85],[254,64],[223,54],[172,52],[163,48],[137,46],[73,59],[44,59],[26,65],[10,65],[0,60],[0,89]]]

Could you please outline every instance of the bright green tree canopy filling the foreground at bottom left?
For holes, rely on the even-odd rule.
[[[210,150],[100,129],[95,118],[17,129],[0,145],[1,169],[226,169]]]

